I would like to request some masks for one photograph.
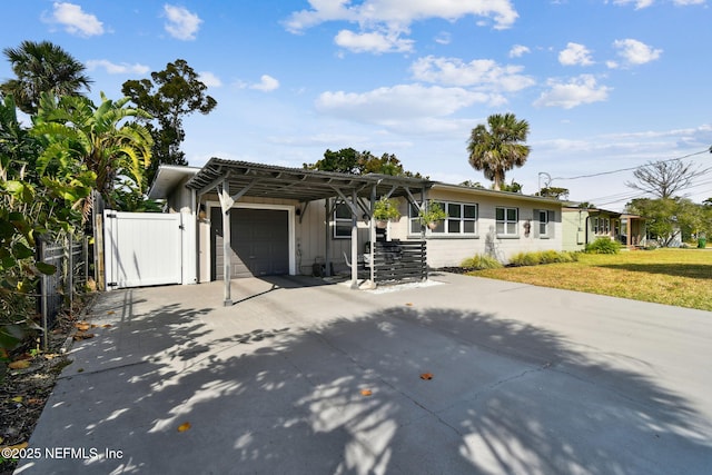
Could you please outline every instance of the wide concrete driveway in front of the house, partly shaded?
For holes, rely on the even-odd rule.
[[[710,313],[316,283],[101,295],[16,473],[712,473]]]

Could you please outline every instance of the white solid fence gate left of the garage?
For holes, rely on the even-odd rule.
[[[107,290],[182,281],[181,214],[103,211]]]

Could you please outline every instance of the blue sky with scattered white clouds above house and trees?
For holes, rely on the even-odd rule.
[[[467,139],[513,112],[532,152],[507,181],[525,194],[550,184],[620,210],[640,192],[616,170],[690,156],[690,198],[712,197],[709,0],[23,0],[3,13],[0,47],[62,47],[96,100],[185,59],[218,101],[186,120],[192,166],[300,167],[353,147],[490,186]]]

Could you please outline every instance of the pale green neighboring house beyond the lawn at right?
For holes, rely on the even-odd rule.
[[[645,245],[645,219],[600,208],[564,206],[563,250],[583,250],[599,238],[616,240],[627,248]]]

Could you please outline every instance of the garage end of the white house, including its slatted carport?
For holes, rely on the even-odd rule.
[[[368,237],[375,235],[373,226],[359,230],[358,225],[374,222],[376,198],[402,197],[421,206],[431,186],[432,181],[415,177],[338,174],[212,157],[199,169],[159,167],[149,197],[165,199],[168,212],[197,218],[197,255],[188,259],[197,277],[194,281],[224,280],[222,303],[230,306],[233,278],[296,275],[303,264],[319,259],[328,269],[349,251],[347,260],[356,261],[363,243],[376,240]],[[328,205],[334,199],[347,202],[356,218],[348,241],[337,243],[330,235]],[[190,246],[184,248],[188,251]],[[230,259],[222,258],[226,255]],[[352,266],[350,274],[352,288],[358,288],[358,267]]]

